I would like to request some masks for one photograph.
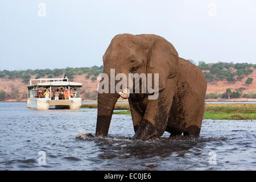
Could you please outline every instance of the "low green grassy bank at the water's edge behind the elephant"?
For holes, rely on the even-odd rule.
[[[85,104],[83,108],[97,108],[97,104]],[[113,114],[131,114],[129,104],[115,105]],[[205,104],[204,119],[256,119],[256,104]]]

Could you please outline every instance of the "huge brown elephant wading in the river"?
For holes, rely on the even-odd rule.
[[[115,103],[128,98],[135,135],[133,139],[199,136],[204,115],[207,81],[200,68],[180,58],[174,46],[154,34],[114,36],[103,56],[103,73],[159,74],[158,98],[150,93],[98,93],[96,136],[106,137]],[[116,74],[115,73],[115,74]],[[102,80],[101,80],[102,81]],[[115,82],[116,84],[116,82]],[[127,85],[129,88],[129,85]],[[123,90],[129,90],[123,88]]]

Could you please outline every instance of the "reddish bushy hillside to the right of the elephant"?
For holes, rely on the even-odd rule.
[[[206,98],[256,98],[256,64],[199,62],[198,67],[207,78]]]

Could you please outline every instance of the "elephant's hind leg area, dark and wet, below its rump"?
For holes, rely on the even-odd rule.
[[[199,136],[204,115],[204,94],[197,93],[189,87],[179,88],[174,97],[166,131],[171,136]]]

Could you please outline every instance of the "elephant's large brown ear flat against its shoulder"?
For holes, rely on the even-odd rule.
[[[168,78],[174,78],[179,69],[179,55],[166,39],[160,38],[155,40],[150,51],[148,52],[147,73],[159,74],[159,89],[154,88],[154,92],[166,87]]]

